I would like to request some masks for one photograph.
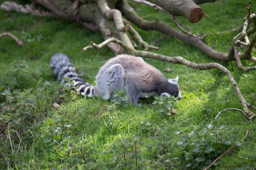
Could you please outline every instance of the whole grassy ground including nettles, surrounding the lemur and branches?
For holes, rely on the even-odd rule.
[[[195,33],[226,31],[242,24],[247,3],[256,11],[255,0],[217,0],[200,5],[208,18],[195,24],[179,19]],[[147,20],[159,19],[175,27],[161,12],[141,5],[135,9]],[[164,37],[157,31],[137,30],[149,44]],[[9,37],[0,38],[0,169],[203,169],[231,146],[234,149],[212,169],[256,167],[256,121],[249,124],[236,111],[213,121],[220,110],[242,109],[228,77],[219,70],[198,72],[145,59],[162,72],[171,68],[171,73],[163,72],[166,78],[179,75],[183,98],[140,99],[141,107],[125,101],[115,104],[70,91],[57,82],[49,66],[54,53],[65,53],[79,75],[95,84],[99,68],[115,56],[107,47],[80,52],[90,40],[103,41],[99,32],[80,30],[78,24],[64,20],[0,11],[3,31],[16,35],[24,46]],[[209,35],[205,42],[227,53],[237,34]],[[157,53],[164,55],[218,62],[170,37],[157,46]],[[255,48],[252,55],[256,56]],[[256,72],[240,71],[236,62],[218,63],[232,72],[247,102],[256,106]],[[238,142],[246,129],[246,141]]]

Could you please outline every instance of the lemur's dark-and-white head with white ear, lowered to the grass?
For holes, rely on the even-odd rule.
[[[180,88],[178,85],[179,76],[175,79],[168,79],[166,86],[162,89],[161,96],[174,96],[175,99],[181,99]]]

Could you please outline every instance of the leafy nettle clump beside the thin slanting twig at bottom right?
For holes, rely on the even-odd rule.
[[[243,146],[237,140],[238,132],[237,128],[230,129],[218,125],[218,121],[212,121],[204,126],[191,125],[189,119],[182,120],[180,131],[176,134],[182,135],[177,144],[183,148],[186,167],[205,168],[231,146]]]

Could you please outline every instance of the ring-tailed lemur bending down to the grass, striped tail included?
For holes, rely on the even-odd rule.
[[[77,91],[88,97],[101,96],[103,99],[112,99],[113,90],[126,89],[132,104],[137,104],[139,97],[174,96],[180,99],[178,76],[175,79],[166,79],[155,67],[147,64],[141,57],[132,55],[117,55],[108,60],[96,76],[96,86],[86,83],[79,78],[76,69],[69,58],[62,53],[56,53],[50,60],[50,66],[58,81],[65,82],[70,77]]]

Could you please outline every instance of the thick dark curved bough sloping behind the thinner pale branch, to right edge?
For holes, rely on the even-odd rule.
[[[231,46],[229,53],[221,53],[219,51],[213,50],[210,46],[207,46],[200,40],[199,38],[190,36],[190,35],[184,35],[180,33],[179,31],[174,30],[170,26],[164,24],[161,21],[147,21],[141,18],[135,10],[130,7],[130,5],[126,2],[126,0],[123,0],[119,6],[117,6],[120,11],[122,11],[123,15],[132,23],[139,26],[141,29],[144,30],[157,30],[161,33],[164,33],[165,35],[170,35],[172,38],[177,38],[179,40],[182,40],[184,42],[187,42],[191,45],[193,45],[195,48],[199,49],[206,55],[208,55],[211,58],[214,58],[216,60],[222,61],[222,62],[229,62],[231,60],[235,60],[234,57],[234,47]],[[254,15],[252,15],[254,16]],[[246,31],[247,36],[253,34],[256,32],[256,17],[252,17],[253,19],[253,26],[252,28],[248,29]],[[243,41],[244,38],[240,37],[238,40]],[[254,60],[249,59],[250,56],[240,54],[241,60]]]

